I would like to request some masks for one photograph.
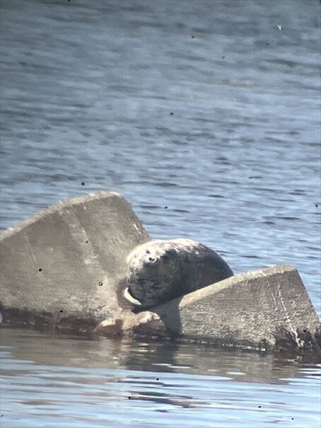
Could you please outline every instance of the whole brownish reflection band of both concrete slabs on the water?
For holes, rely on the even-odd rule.
[[[86,369],[129,369],[225,376],[235,381],[288,383],[304,376],[297,362],[203,345],[135,340],[98,340],[66,335],[44,335],[35,330],[1,328],[1,345],[13,359],[35,364]],[[161,381],[161,379],[160,379]]]

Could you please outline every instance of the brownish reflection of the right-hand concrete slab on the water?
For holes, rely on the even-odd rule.
[[[142,359],[134,347],[123,356],[128,369],[224,376],[235,381],[259,383],[288,383],[285,378],[298,374],[299,366],[288,360],[276,359],[272,354],[262,356],[242,351],[213,349],[204,345],[175,345],[153,343],[148,345]],[[302,376],[302,373],[300,373]]]

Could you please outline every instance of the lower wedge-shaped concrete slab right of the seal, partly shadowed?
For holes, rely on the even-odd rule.
[[[290,265],[235,274],[119,325],[127,334],[225,347],[318,354],[321,347],[320,320]]]

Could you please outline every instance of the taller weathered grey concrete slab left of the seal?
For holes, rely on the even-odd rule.
[[[5,322],[97,325],[119,310],[116,287],[130,251],[149,241],[117,192],[58,202],[0,237]]]

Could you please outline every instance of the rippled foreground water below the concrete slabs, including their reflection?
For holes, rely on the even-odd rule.
[[[6,328],[1,342],[1,427],[320,426],[321,366]]]

